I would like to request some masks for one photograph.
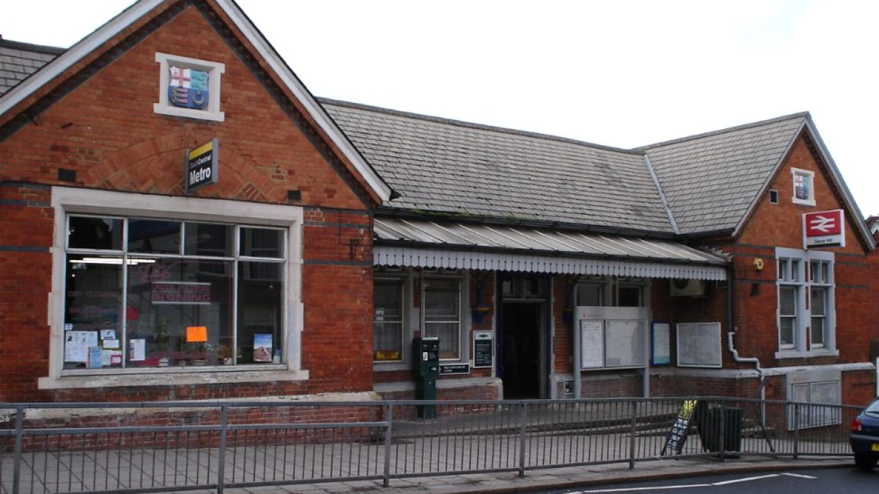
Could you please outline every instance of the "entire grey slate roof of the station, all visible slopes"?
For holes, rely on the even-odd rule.
[[[0,98],[64,51],[0,39]],[[808,113],[796,113],[638,149],[614,149],[318,101],[402,195],[388,208],[660,236],[737,229],[803,127],[817,132]],[[841,178],[839,186],[847,191]],[[856,209],[854,201],[851,205]],[[868,235],[866,226],[864,232]]]

